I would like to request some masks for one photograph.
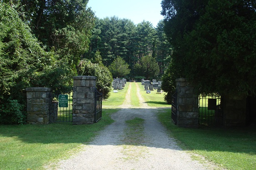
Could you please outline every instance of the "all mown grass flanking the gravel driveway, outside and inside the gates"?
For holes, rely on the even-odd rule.
[[[177,139],[185,150],[203,155],[206,159],[230,170],[256,169],[256,128],[206,128],[188,129],[175,126],[171,120],[171,109],[164,102],[164,94],[156,90],[147,94],[140,86],[140,95],[149,106],[159,109],[159,120],[167,127],[168,133]],[[118,93],[111,92],[109,99],[104,100],[102,119],[96,124],[74,126],[72,123],[54,123],[48,125],[0,125],[0,170],[40,170],[44,165],[56,163],[81,149],[105,126],[113,120],[110,114],[117,112],[124,102],[129,83]],[[137,106],[136,87],[132,83],[132,105]],[[139,127],[143,119],[127,121],[130,130]],[[130,134],[129,129],[125,132]],[[143,129],[140,127],[139,129]],[[134,130],[132,130],[134,131]],[[136,139],[141,135],[137,131],[127,143],[138,144]],[[139,145],[139,144],[138,144]]]

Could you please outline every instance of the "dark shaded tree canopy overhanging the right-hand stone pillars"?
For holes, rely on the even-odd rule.
[[[162,9],[174,70],[203,93],[255,94],[255,1],[162,0]]]

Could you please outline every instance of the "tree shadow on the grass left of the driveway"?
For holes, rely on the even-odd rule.
[[[104,109],[102,119],[90,125],[72,125],[72,122],[0,125],[0,143],[10,140],[4,137],[15,137],[15,140],[22,140],[25,143],[87,143],[98,131],[114,122],[110,115],[117,111],[118,109]]]

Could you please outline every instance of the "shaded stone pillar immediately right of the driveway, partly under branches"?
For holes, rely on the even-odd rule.
[[[177,125],[181,127],[198,127],[198,95],[194,87],[184,78],[176,79]]]

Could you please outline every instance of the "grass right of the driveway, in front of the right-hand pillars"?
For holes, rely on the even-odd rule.
[[[173,124],[170,109],[159,120],[179,145],[230,170],[256,169],[256,128],[181,128]]]

